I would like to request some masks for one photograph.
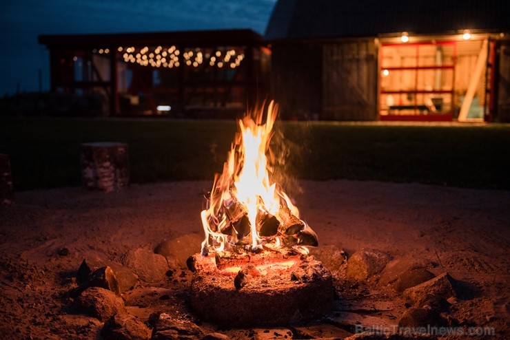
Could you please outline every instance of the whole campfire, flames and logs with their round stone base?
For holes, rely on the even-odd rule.
[[[230,326],[282,325],[332,308],[332,276],[308,246],[318,246],[281,186],[270,147],[277,107],[239,120],[223,173],[201,213],[205,240],[187,261],[197,315]],[[263,123],[264,121],[264,123]]]

